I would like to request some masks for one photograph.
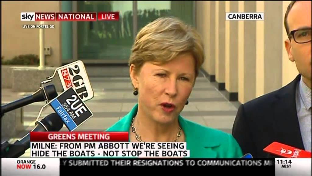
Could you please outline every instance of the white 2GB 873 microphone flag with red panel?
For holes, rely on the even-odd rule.
[[[73,87],[82,101],[93,98],[92,90],[85,65],[81,60],[56,68],[64,91]]]

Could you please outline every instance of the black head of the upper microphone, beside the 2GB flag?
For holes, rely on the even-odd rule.
[[[47,100],[52,100],[57,97],[57,91],[53,84],[44,86],[44,90],[46,91]],[[45,101],[46,96],[44,95],[44,91],[41,89],[32,95],[32,99],[34,102]]]

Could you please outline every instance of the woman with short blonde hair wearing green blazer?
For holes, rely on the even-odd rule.
[[[180,115],[203,62],[202,40],[193,27],[174,17],[147,24],[129,59],[138,103],[107,131],[129,132],[130,142],[186,142],[192,158],[241,157],[230,134]]]

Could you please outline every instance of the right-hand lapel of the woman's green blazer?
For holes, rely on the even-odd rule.
[[[194,123],[179,116],[179,123],[185,134],[187,149],[190,150],[190,158],[216,158],[217,152],[214,147],[220,145],[219,140],[213,139],[210,133],[202,131]]]

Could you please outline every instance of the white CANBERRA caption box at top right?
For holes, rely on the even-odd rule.
[[[234,20],[234,21],[263,21],[264,20],[264,13],[257,12],[257,13],[226,13],[226,20]]]

